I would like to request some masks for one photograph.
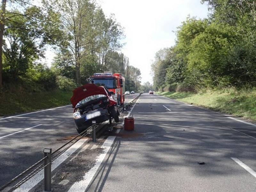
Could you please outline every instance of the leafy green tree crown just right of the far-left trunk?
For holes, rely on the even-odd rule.
[[[27,16],[12,11],[5,23],[9,27],[4,31],[7,42],[3,44],[3,67],[9,78],[24,76],[35,60],[44,57],[44,46],[55,44],[60,37],[59,17],[54,12],[41,14],[40,8],[32,6],[24,14]]]

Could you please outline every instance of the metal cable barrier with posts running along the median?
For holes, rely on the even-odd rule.
[[[128,106],[130,106],[132,103],[134,103],[134,101],[136,99],[138,99],[138,97],[141,95],[142,93],[140,93],[137,97],[135,97],[133,100],[131,100],[130,102],[119,106],[118,109],[124,109],[128,108]],[[99,124],[100,125],[100,124]],[[67,143],[65,143],[64,145],[60,146],[59,148],[57,148],[56,150],[54,150],[52,152],[51,148],[44,148],[44,157],[42,159],[40,159],[39,161],[37,161],[35,164],[31,165],[28,169],[26,169],[25,171],[21,172],[19,175],[17,175],[16,177],[14,177],[12,180],[8,181],[7,183],[5,183],[3,186],[0,187],[0,191],[3,191],[4,189],[6,189],[7,187],[9,187],[11,184],[15,183],[17,180],[20,179],[20,181],[18,181],[14,186],[12,186],[10,189],[7,189],[6,192],[11,192],[15,189],[17,189],[18,187],[20,187],[23,183],[25,183],[27,180],[29,180],[30,178],[32,178],[34,175],[36,175],[36,173],[40,172],[42,169],[44,169],[44,191],[51,191],[51,164],[52,162],[57,159],[60,155],[62,155],[65,151],[67,151],[72,145],[74,145],[77,141],[79,141],[80,139],[82,139],[84,136],[89,134],[89,131],[92,131],[92,141],[95,142],[96,141],[96,129],[99,125],[96,125],[95,122],[93,122],[93,125],[88,127],[86,130],[84,130],[83,132],[81,132],[80,134],[76,135],[76,137],[74,137],[73,139],[69,140]],[[75,142],[73,142],[74,140],[76,140]],[[67,146],[68,144],[70,144],[72,142],[71,145],[69,145],[67,148],[64,148],[65,146]],[[64,148],[64,149],[63,149]],[[50,152],[48,152],[48,149]],[[63,149],[62,151],[60,151],[61,149]],[[45,152],[46,151],[46,152]],[[60,151],[59,153],[57,153],[58,151]],[[55,154],[55,155],[54,155]],[[37,166],[37,167],[36,167]],[[35,168],[36,167],[36,168]],[[33,171],[31,171],[33,168],[35,168]],[[30,172],[31,171],[31,172]],[[25,176],[25,177],[24,177]],[[23,177],[23,178],[22,178]],[[22,179],[21,179],[22,178]]]

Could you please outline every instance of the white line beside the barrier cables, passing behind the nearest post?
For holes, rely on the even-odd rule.
[[[56,169],[61,163],[63,163],[70,155],[72,155],[79,147],[81,147],[84,142],[88,139],[81,139],[77,141],[73,146],[71,146],[67,151],[61,154],[57,159],[52,162],[52,171]],[[28,192],[33,187],[35,187],[41,180],[44,179],[44,169],[36,173],[32,178],[22,184],[14,192]]]

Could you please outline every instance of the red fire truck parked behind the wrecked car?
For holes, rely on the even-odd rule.
[[[113,91],[113,97],[116,99],[117,104],[119,106],[124,104],[125,78],[122,73],[94,73],[89,78],[89,81],[98,86],[105,86],[108,91]]]

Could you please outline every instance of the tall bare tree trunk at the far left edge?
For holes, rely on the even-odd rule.
[[[6,7],[6,1],[2,0],[2,7],[1,7],[1,15],[0,15],[0,87],[3,86],[2,81],[2,68],[3,68],[3,40],[4,40],[4,14],[5,14],[5,7]]]

